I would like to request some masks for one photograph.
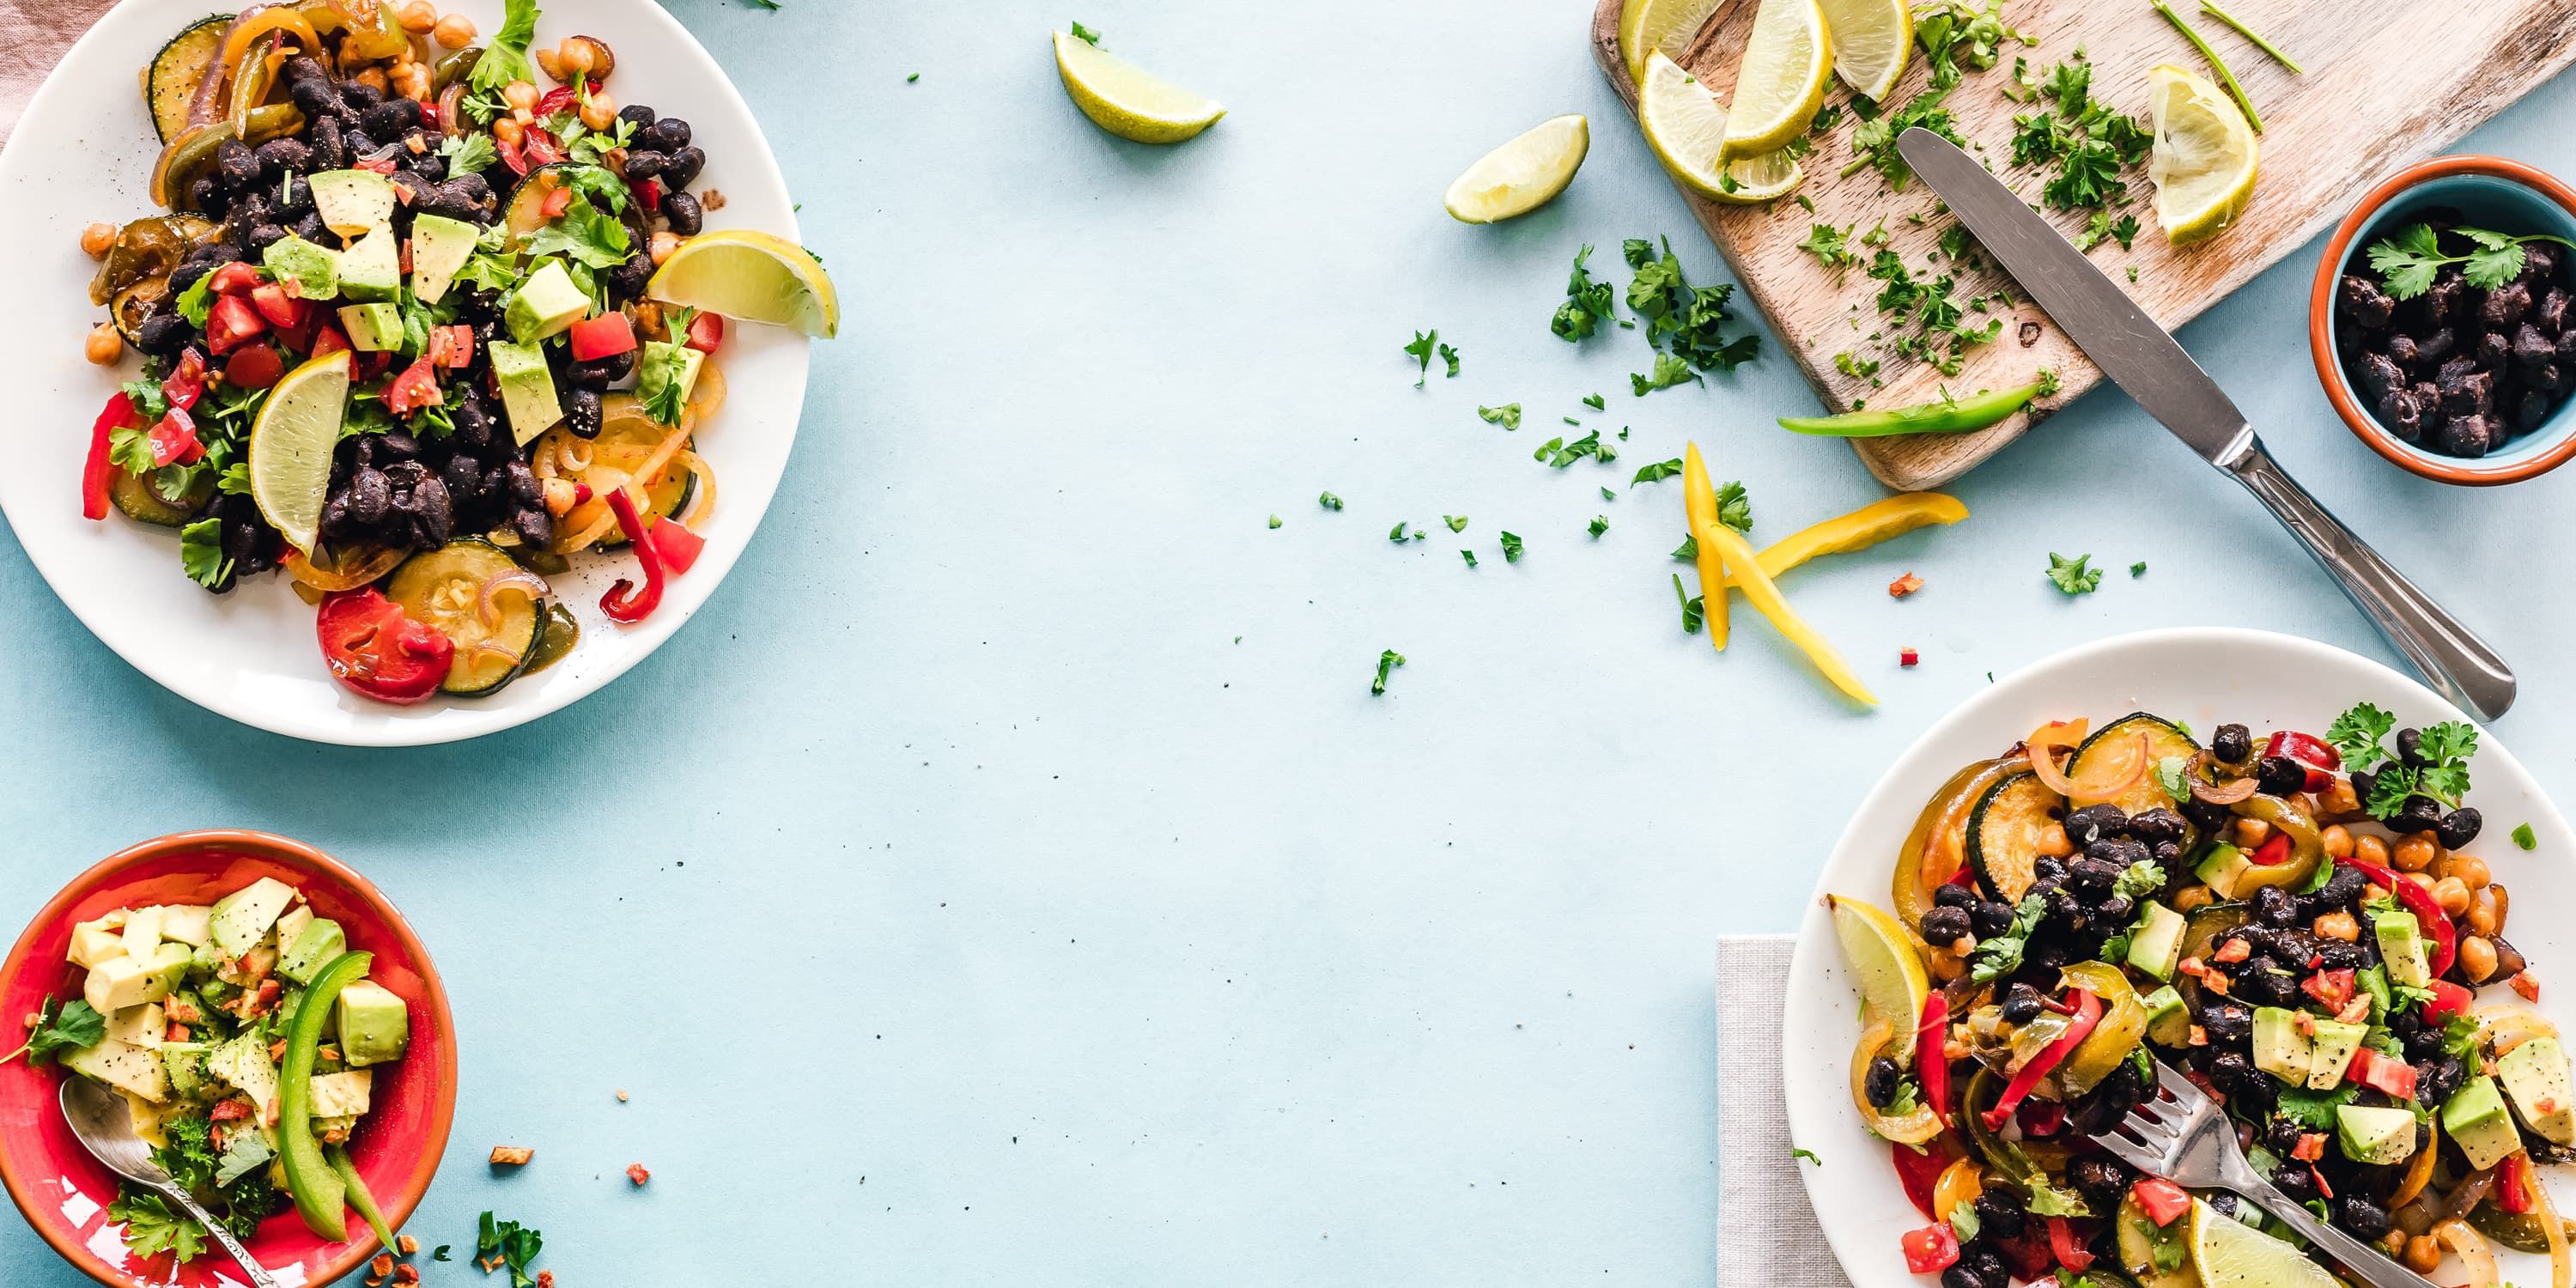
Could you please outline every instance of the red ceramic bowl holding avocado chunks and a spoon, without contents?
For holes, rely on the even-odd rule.
[[[366,1188],[392,1224],[420,1206],[438,1175],[456,1121],[456,1025],[448,994],[438,984],[430,953],[402,922],[376,886],[335,858],[268,832],[180,832],[147,840],[62,889],[36,922],[18,935],[0,963],[0,1018],[15,1043],[15,1018],[33,1012],[44,997],[77,997],[80,969],[64,961],[72,922],[85,922],[118,907],[211,904],[216,896],[276,876],[304,891],[322,917],[340,922],[350,951],[374,953],[368,979],[384,984],[412,1007],[412,1048],[402,1061],[379,1069],[374,1113],[358,1121],[350,1157]],[[106,1218],[116,1198],[116,1175],[72,1139],[57,1103],[59,1069],[31,1069],[23,1059],[0,1066],[0,1182],[54,1252],[98,1283],[214,1288],[237,1285],[240,1270],[219,1247],[206,1257],[173,1267],[170,1257],[142,1260],[126,1252],[118,1226]],[[289,1208],[260,1224],[250,1239],[252,1257],[286,1283],[330,1283],[379,1252],[376,1236],[350,1213],[350,1242],[325,1244]],[[301,1275],[299,1275],[301,1273]]]

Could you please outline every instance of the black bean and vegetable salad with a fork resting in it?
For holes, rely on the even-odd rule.
[[[2470,853],[2476,747],[2360,703],[2324,737],[2208,744],[2148,714],[2050,721],[1958,770],[1899,855],[1896,914],[1832,899],[1868,1025],[1852,1100],[1932,1218],[1906,1265],[1945,1288],[2331,1288],[2257,1206],[2092,1141],[2161,1061],[2272,1188],[2406,1267],[2496,1285],[2501,1244],[2568,1288],[2535,1164],[2576,1157],[2576,1095]]]

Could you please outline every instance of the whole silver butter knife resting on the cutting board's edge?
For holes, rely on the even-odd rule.
[[[2478,719],[2496,719],[2514,706],[2514,672],[2496,649],[2272,464],[2254,425],[2246,425],[2218,381],[2128,291],[1953,142],[1929,129],[1909,129],[1896,139],[1896,152],[2112,384],[2254,492],[2437,693]]]

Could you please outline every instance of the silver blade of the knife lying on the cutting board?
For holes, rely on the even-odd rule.
[[[2210,464],[2244,451],[2251,430],[2218,381],[2004,180],[1929,129],[1904,131],[1896,152],[2146,415]]]

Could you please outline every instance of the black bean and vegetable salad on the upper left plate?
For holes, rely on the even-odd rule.
[[[531,54],[536,21],[531,0],[487,41],[428,0],[198,21],[144,70],[165,211],[82,234],[111,314],[88,355],[142,355],[90,430],[82,510],[175,528],[211,592],[283,569],[332,675],[389,703],[572,649],[546,582],[572,554],[636,559],[644,587],[600,608],[652,613],[716,500],[693,446],[724,399],[721,312],[837,317],[793,242],[703,229],[708,157],[685,118],[611,95],[608,39]],[[791,296],[755,273],[781,255],[822,325],[732,307]]]

